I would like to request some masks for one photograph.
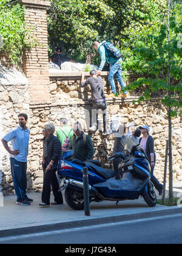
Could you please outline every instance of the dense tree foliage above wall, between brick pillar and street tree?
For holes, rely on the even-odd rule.
[[[124,48],[132,46],[135,38],[130,40],[130,29],[150,27],[156,9],[163,9],[165,0],[51,0],[51,4],[50,48],[61,45],[67,54],[86,60],[88,55],[96,54],[95,40],[112,41]]]

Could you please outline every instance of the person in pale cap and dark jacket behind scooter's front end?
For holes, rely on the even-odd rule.
[[[149,126],[140,126],[141,134],[143,137],[140,138],[140,146],[143,151],[146,153],[149,158],[150,166],[151,166],[151,181],[154,187],[158,190],[159,195],[163,193],[163,185],[157,180],[157,178],[153,175],[153,170],[155,168],[156,155],[154,152],[154,140],[153,137],[149,135],[150,128]]]

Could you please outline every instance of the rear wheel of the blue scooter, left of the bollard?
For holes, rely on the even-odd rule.
[[[66,188],[64,197],[67,205],[73,210],[84,210],[84,196],[81,191],[74,190],[73,188]]]

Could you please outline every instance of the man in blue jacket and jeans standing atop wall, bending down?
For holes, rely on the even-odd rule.
[[[97,75],[99,76],[101,74],[101,71],[103,70],[106,62],[110,64],[108,80],[110,82],[112,93],[110,93],[106,97],[115,97],[116,87],[115,87],[114,76],[116,76],[116,79],[118,80],[118,82],[120,82],[122,90],[124,89],[124,87],[126,87],[123,81],[122,68],[121,68],[121,63],[123,62],[123,59],[122,58],[117,60],[113,59],[113,57],[110,56],[109,51],[104,47],[104,43],[106,43],[106,41],[103,41],[102,43],[95,41],[93,43],[93,48],[96,51],[99,51],[99,54],[101,55],[101,64],[99,66]],[[121,98],[126,96],[127,96],[127,91],[124,91],[124,93],[119,95],[118,97]]]

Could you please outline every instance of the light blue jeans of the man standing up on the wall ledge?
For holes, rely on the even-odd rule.
[[[121,62],[122,62],[122,59],[110,64],[108,80],[110,82],[110,86],[113,94],[116,93],[115,80],[113,78],[114,76],[116,76],[116,79],[118,80],[118,82],[120,82],[122,89],[126,87],[122,78]],[[127,94],[127,91],[124,91],[124,94]]]

